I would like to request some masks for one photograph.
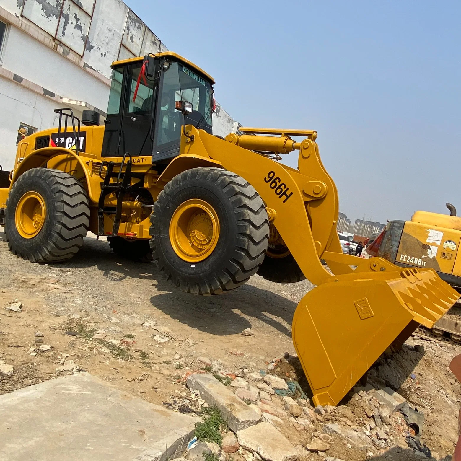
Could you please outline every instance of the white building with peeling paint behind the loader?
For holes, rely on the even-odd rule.
[[[102,123],[111,63],[165,50],[121,0],[0,0],[0,165],[12,169],[20,128],[57,126],[54,109],[96,110]],[[214,134],[236,126],[218,105]]]

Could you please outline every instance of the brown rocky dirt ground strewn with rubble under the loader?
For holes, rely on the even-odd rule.
[[[307,281],[254,276],[226,295],[186,295],[153,264],[122,260],[94,238],[68,263],[38,265],[10,254],[0,233],[0,261],[0,394],[85,370],[149,402],[200,413],[208,404],[186,381],[207,372],[254,405],[301,459],[425,457],[406,437],[434,459],[453,453],[461,386],[448,365],[461,353],[456,344],[414,336],[382,356],[368,383],[337,408],[313,408],[290,331],[297,302],[312,288]],[[301,388],[285,392],[270,376]],[[386,386],[424,414],[420,438],[380,401]],[[234,448],[228,458],[259,457]]]

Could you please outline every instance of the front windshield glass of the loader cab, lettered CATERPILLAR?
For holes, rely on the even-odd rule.
[[[164,71],[156,127],[157,146],[181,138],[183,115],[175,109],[175,101],[179,100],[192,103],[192,113],[186,117],[186,124],[212,133],[212,95],[213,90],[207,80],[181,63],[171,63]]]

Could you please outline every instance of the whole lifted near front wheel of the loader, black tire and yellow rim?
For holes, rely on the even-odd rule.
[[[216,295],[244,284],[267,249],[269,221],[251,184],[201,167],[175,176],[151,215],[154,262],[180,290]]]

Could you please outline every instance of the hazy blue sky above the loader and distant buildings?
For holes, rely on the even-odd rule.
[[[353,222],[461,215],[461,2],[125,1],[243,125],[317,130]]]

